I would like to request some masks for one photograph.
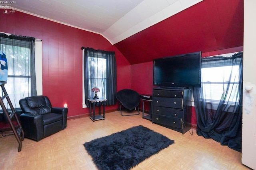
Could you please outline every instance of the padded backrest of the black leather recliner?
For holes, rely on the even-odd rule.
[[[19,103],[24,113],[29,112],[42,115],[52,111],[52,105],[46,96],[26,97],[25,99],[20,99]]]

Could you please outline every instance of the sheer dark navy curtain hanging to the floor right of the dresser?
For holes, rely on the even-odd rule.
[[[205,57],[202,58],[202,68],[209,65],[239,66],[239,82],[229,77],[223,86],[223,95],[214,109],[213,103],[206,101],[204,86],[193,88],[194,103],[197,117],[197,134],[204,138],[212,138],[221,145],[241,152],[242,150],[242,80],[243,80],[243,53],[239,52],[231,57]],[[233,70],[233,69],[232,69]],[[231,71],[232,72],[232,71]],[[218,75],[222,76],[222,75]],[[234,95],[233,91],[236,91]],[[230,96],[233,94],[234,96]],[[231,101],[232,98],[232,101]]]

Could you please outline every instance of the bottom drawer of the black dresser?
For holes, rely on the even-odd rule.
[[[152,114],[152,122],[167,125],[170,127],[183,128],[182,119],[164,115]]]

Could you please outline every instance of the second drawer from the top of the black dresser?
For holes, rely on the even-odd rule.
[[[176,109],[183,109],[183,99],[182,98],[163,98],[163,97],[154,97],[153,98],[154,106],[162,107],[172,107]]]

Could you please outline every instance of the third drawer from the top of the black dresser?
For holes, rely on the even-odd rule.
[[[168,108],[168,107],[154,106],[153,113],[158,114],[158,115],[177,117],[177,118],[181,118],[181,119],[183,118],[182,110],[172,109],[172,108]]]

